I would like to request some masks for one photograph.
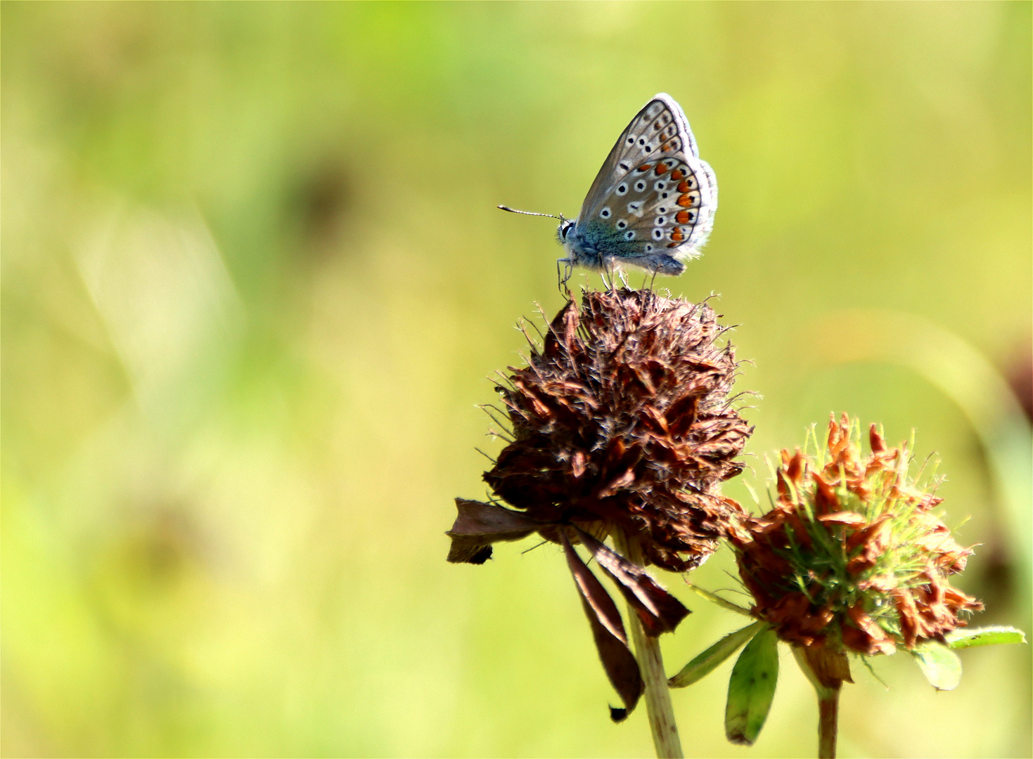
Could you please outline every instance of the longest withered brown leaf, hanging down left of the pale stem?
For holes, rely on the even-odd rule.
[[[606,593],[599,579],[592,574],[577,551],[570,545],[565,533],[561,531],[563,550],[567,556],[567,566],[574,576],[574,583],[581,594],[585,615],[592,626],[592,637],[599,652],[602,667],[606,670],[614,689],[624,701],[625,709],[612,709],[611,718],[620,722],[638,703],[645,684],[638,662],[628,647],[628,636],[624,632],[624,622],[617,610],[617,604]]]

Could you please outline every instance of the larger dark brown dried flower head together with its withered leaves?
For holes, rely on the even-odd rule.
[[[607,674],[625,704],[641,689],[620,614],[574,550],[617,582],[648,635],[688,610],[600,541],[627,536],[644,560],[685,571],[742,516],[718,492],[739,474],[752,428],[728,391],[737,363],[706,304],[652,290],[586,292],[553,319],[528,366],[497,387],[511,442],[484,480],[503,501],[457,499],[448,560],[480,564],[491,543],[538,532],[564,547]],[[629,542],[630,545],[630,542]],[[630,658],[630,660],[629,660]]]

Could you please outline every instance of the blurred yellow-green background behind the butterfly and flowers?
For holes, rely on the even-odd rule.
[[[3,3],[3,754],[651,754],[558,549],[442,533],[561,303],[554,223],[495,205],[575,214],[659,91],[721,188],[663,285],[762,397],[727,493],[829,411],[915,429],[975,623],[1029,631],[1030,10]],[[674,672],[739,620],[664,580]],[[1029,756],[1029,646],[962,656],[855,667],[841,756]],[[813,756],[791,657],[725,741],[730,666],[674,693],[687,754]]]

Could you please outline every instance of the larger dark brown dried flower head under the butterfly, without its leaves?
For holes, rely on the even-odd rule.
[[[737,365],[707,305],[652,290],[568,303],[498,388],[514,440],[484,480],[534,519],[616,525],[651,563],[696,566],[739,511],[716,485],[742,471],[752,432],[729,404]]]

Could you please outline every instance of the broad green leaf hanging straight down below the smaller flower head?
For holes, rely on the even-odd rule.
[[[752,746],[764,726],[778,684],[778,637],[772,629],[753,636],[728,681],[724,734],[733,744]]]

